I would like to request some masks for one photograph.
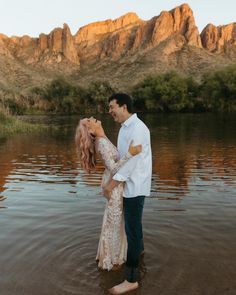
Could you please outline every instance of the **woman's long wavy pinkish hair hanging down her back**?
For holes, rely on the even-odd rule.
[[[91,172],[96,165],[95,137],[89,133],[87,119],[81,119],[76,128],[75,144],[81,167]]]

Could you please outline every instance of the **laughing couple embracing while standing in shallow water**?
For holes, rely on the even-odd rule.
[[[107,202],[96,259],[106,270],[125,263],[124,281],[109,289],[111,294],[123,294],[139,286],[142,214],[145,196],[150,195],[152,154],[150,132],[133,113],[131,97],[116,93],[108,101],[109,113],[121,124],[117,148],[93,117],[80,120],[75,139],[84,170],[95,169],[97,156],[105,166],[102,189]]]

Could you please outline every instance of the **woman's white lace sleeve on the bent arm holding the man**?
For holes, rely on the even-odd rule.
[[[122,167],[130,158],[132,158],[132,155],[127,152],[124,157],[115,162],[109,146],[109,142],[105,138],[101,138],[99,140],[97,150],[102,158],[103,164],[112,175],[116,174],[120,167]]]

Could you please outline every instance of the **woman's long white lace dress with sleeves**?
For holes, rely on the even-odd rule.
[[[105,166],[102,186],[117,170],[132,156],[127,153],[118,161],[118,151],[108,138],[96,139],[96,151]],[[98,267],[111,270],[114,265],[121,265],[126,261],[127,239],[123,216],[123,184],[119,184],[112,191],[107,201],[103,216],[102,230],[98,244],[96,260]]]

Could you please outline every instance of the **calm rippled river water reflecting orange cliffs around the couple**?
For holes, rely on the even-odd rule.
[[[107,294],[122,271],[98,271],[95,263],[102,167],[81,171],[77,117],[31,120],[59,128],[0,140],[0,294]],[[115,143],[119,126],[102,120]],[[142,286],[132,294],[236,294],[236,119],[143,120],[152,135],[153,182]]]

